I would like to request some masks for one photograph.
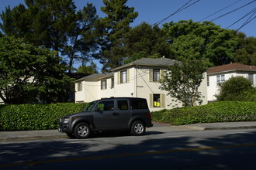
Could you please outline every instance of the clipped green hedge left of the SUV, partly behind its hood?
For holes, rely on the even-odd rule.
[[[0,131],[57,129],[61,117],[74,114],[86,104],[0,105]]]

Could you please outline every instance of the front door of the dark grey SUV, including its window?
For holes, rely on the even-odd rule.
[[[93,114],[93,121],[95,128],[112,128],[112,116],[115,110],[114,100],[100,100],[95,105],[95,113]]]

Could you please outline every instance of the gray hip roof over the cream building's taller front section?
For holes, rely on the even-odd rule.
[[[133,61],[131,63],[127,63],[123,66],[119,66],[115,69],[112,69],[112,71],[114,70],[119,70],[119,69],[123,69],[129,66],[163,66],[163,67],[167,67],[167,66],[172,66],[175,63],[175,59],[168,59],[168,58],[157,58],[157,59],[151,59],[151,58],[142,58],[142,59],[138,59],[136,61]]]

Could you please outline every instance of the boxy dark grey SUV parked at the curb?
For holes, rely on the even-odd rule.
[[[152,126],[146,99],[117,97],[92,101],[82,112],[61,118],[59,131],[70,138],[87,138],[95,131],[129,130],[142,135]]]

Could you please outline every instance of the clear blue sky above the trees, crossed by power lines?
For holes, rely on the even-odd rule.
[[[77,8],[83,8],[88,2],[95,5],[99,17],[106,16],[106,14],[100,10],[100,7],[104,6],[102,0],[74,0]],[[191,6],[175,15],[171,15],[187,2],[189,2],[188,5]],[[192,5],[194,2],[195,4]],[[248,4],[249,2],[252,3]],[[8,5],[13,8],[20,3],[24,4],[24,0],[0,0],[0,12],[5,10],[5,7]],[[159,26],[166,22],[178,22],[179,20],[188,19],[192,19],[194,22],[199,22],[207,16],[217,12],[215,15],[212,15],[205,20],[211,21],[215,19],[213,22],[216,25],[220,25],[223,29],[239,29],[240,26],[243,26],[244,22],[247,22],[247,19],[248,21],[252,19],[251,22],[247,23],[247,25],[242,27],[239,31],[244,32],[247,36],[256,37],[256,19],[254,19],[254,17],[256,17],[256,12],[252,11],[256,8],[255,0],[128,0],[126,5],[134,7],[135,12],[139,12],[137,19],[134,20],[131,26],[137,26],[142,22],[154,24],[167,18],[169,15],[171,16]],[[227,7],[229,5],[230,7]],[[243,5],[245,6],[240,8]],[[220,11],[221,9],[223,10]],[[221,15],[223,16],[220,17]],[[242,19],[243,17],[244,19]]]

